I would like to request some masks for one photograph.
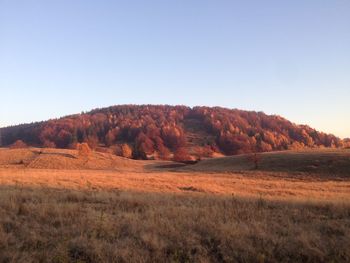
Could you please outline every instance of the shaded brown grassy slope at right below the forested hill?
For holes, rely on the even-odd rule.
[[[269,152],[257,155],[257,167],[252,154],[203,160],[181,170],[195,172],[287,172],[317,175],[350,176],[350,150],[303,150]]]

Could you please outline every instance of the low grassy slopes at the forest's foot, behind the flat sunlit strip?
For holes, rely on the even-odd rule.
[[[280,151],[203,159],[196,164],[171,161],[136,161],[111,153],[91,152],[84,156],[70,149],[0,149],[0,168],[55,170],[101,170],[129,172],[236,173],[282,172],[318,176],[350,176],[350,149]],[[323,176],[323,177],[324,177]]]

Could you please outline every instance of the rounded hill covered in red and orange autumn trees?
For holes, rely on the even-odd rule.
[[[341,147],[344,141],[263,112],[220,107],[121,105],[1,129],[2,144],[91,148],[133,158],[210,157],[303,147]]]

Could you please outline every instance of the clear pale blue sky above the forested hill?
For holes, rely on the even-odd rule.
[[[0,0],[0,126],[219,105],[350,137],[350,1]]]

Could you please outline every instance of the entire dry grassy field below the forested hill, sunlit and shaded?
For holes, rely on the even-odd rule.
[[[0,149],[0,262],[349,262],[348,154]]]

